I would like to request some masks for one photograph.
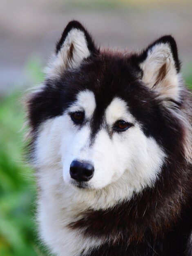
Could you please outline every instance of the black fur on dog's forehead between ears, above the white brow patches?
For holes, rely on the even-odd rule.
[[[90,90],[96,102],[106,107],[116,96],[125,98],[135,93],[134,84],[139,84],[140,79],[129,59],[122,54],[105,53],[85,60],[76,70],[65,72],[60,81],[66,88],[67,100],[69,95],[73,98],[80,91]]]

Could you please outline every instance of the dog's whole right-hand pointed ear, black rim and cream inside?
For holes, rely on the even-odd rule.
[[[138,56],[143,82],[157,92],[167,106],[180,101],[180,62],[172,36],[163,36]]]

